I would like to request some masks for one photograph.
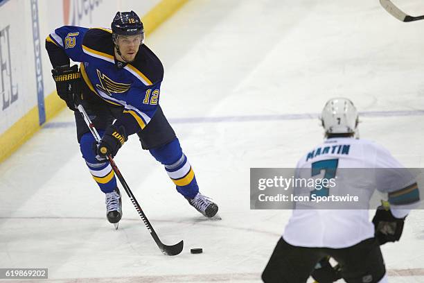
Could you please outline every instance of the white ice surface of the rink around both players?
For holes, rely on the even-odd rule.
[[[398,2],[424,13],[421,0]],[[291,212],[249,209],[249,168],[295,166],[334,96],[362,113],[361,137],[424,166],[424,22],[398,22],[378,0],[191,0],[146,44],[164,63],[162,108],[222,220],[190,207],[130,137],[116,163],[161,240],[184,250],[162,255],[126,195],[114,230],[64,110],[0,164],[0,268],[48,268],[57,283],[260,282]],[[382,246],[389,282],[424,282],[423,216]]]

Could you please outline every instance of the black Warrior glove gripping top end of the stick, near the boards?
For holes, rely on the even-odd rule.
[[[67,103],[69,109],[75,111],[75,105],[80,103],[82,85],[78,66],[55,67],[51,70],[51,74],[55,80],[58,95]]]

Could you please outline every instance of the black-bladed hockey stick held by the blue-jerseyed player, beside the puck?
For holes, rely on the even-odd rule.
[[[91,132],[91,134],[94,136],[94,139],[96,139],[97,143],[100,144],[100,135],[98,135],[98,132],[96,128],[94,128],[94,124],[91,122],[91,119],[87,112],[85,112],[84,107],[82,105],[78,105],[78,110],[81,112],[82,117],[84,118],[85,123],[87,123],[87,126]],[[114,173],[118,176],[119,181],[121,182],[123,188],[127,192],[128,197],[130,198],[132,204],[136,208],[137,212],[139,212],[139,216],[141,217],[141,220],[143,221],[146,228],[148,228],[150,235],[154,239],[154,241],[157,243],[157,246],[159,246],[159,249],[164,253],[164,255],[178,255],[180,252],[182,252],[184,242],[180,241],[179,243],[176,243],[173,246],[167,246],[164,243],[161,242],[159,237],[157,236],[156,232],[154,232],[153,226],[148,221],[148,218],[145,216],[143,210],[141,209],[139,203],[137,202],[136,198],[132,194],[132,191],[130,190],[130,187],[128,187],[127,182],[125,182],[123,175],[118,169],[118,166],[116,166],[112,155],[107,155],[107,160],[109,160],[110,166],[112,166],[112,169],[114,170]]]

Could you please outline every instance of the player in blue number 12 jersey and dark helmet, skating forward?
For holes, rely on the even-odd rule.
[[[121,194],[106,156],[115,156],[128,136],[164,164],[169,177],[206,217],[218,205],[200,194],[195,174],[159,105],[164,67],[144,44],[143,23],[135,12],[117,12],[112,30],[62,26],[46,38],[58,95],[75,111],[78,143],[91,175],[105,193],[107,220],[122,217]],[[70,67],[70,59],[80,62]],[[76,105],[82,104],[102,136],[96,144]]]

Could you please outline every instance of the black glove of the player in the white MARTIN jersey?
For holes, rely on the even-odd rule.
[[[388,241],[399,241],[403,232],[405,218],[406,216],[404,218],[396,218],[391,214],[389,208],[380,205],[373,218],[373,224],[376,230],[374,236],[378,240],[378,243],[383,245]]]

